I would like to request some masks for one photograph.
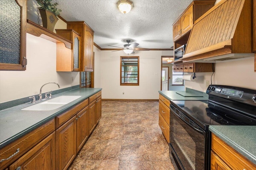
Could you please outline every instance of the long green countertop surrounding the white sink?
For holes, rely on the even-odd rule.
[[[21,110],[25,107],[33,105],[32,103],[27,103],[0,111],[0,148],[36,129],[40,125],[50,121],[55,116],[64,113],[71,107],[79,104],[100,90],[102,90],[102,88],[76,88],[74,90],[53,95],[52,98],[56,98],[58,96],[81,96],[73,102],[70,102],[54,110]],[[44,101],[46,100],[42,100],[40,102]],[[36,102],[35,104],[40,102]]]

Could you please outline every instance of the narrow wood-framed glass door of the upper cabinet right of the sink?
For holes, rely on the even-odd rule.
[[[73,41],[72,41],[72,70],[80,71],[80,61],[81,61],[81,37],[80,35],[73,33]]]

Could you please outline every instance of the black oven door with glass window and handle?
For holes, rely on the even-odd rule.
[[[174,107],[175,108],[175,107]],[[176,111],[174,111],[176,110]],[[206,133],[178,109],[170,108],[170,154],[183,170],[206,170]]]

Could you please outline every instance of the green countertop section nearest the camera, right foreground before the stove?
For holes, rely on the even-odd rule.
[[[256,126],[210,125],[209,130],[256,164]]]

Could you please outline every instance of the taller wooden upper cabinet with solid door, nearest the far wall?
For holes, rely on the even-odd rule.
[[[93,71],[93,34],[94,31],[84,21],[67,22],[67,29],[73,29],[81,35],[82,62],[80,71]]]

